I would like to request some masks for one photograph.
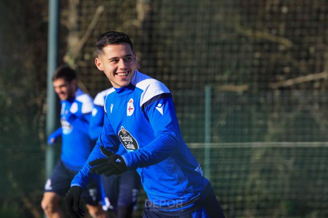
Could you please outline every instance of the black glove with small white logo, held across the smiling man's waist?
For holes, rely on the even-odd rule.
[[[89,165],[91,167],[94,166],[90,169],[91,172],[97,175],[104,173],[105,176],[110,176],[113,174],[121,174],[128,169],[121,156],[107,151],[104,146],[101,146],[100,150],[102,154],[104,154],[108,158],[99,158],[97,160],[89,162]]]

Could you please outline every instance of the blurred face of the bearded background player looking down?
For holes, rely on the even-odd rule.
[[[65,101],[71,97],[74,97],[76,91],[76,80],[71,83],[65,81],[63,78],[58,78],[52,82],[60,100]]]

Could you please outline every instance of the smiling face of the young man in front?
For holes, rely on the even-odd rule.
[[[103,52],[95,58],[97,68],[104,71],[114,88],[129,85],[136,69],[136,54],[130,45],[107,45]]]

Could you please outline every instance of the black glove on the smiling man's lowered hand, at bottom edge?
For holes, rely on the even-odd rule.
[[[72,186],[65,198],[67,212],[71,218],[82,218],[84,211],[80,208],[80,197],[82,188],[80,186]]]

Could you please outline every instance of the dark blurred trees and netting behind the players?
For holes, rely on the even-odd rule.
[[[0,217],[39,218],[48,1],[1,0],[0,14]],[[59,60],[94,97],[110,87],[94,66],[97,36],[127,33],[139,69],[171,90],[201,164],[204,87],[211,86],[208,170],[228,218],[322,218],[327,27],[326,0],[61,0]]]

